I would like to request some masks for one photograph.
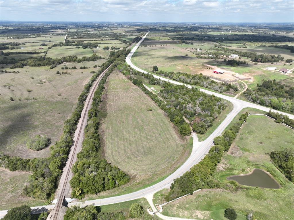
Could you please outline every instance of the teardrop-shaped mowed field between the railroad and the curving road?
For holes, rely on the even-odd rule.
[[[141,187],[170,174],[189,156],[191,139],[180,137],[165,113],[121,73],[111,73],[108,80],[101,137],[107,161],[131,177],[123,187]]]

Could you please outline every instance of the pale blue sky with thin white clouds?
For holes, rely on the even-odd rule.
[[[0,20],[294,22],[294,0],[0,0]]]

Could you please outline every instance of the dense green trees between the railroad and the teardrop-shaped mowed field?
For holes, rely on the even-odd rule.
[[[73,165],[74,176],[70,180],[72,197],[82,198],[85,194],[97,194],[103,190],[113,189],[128,182],[129,176],[118,167],[107,163],[100,152],[99,140],[99,105],[103,95],[104,84],[116,64],[124,61],[125,57],[117,59],[111,68],[101,78],[93,96],[92,108],[88,112],[88,124],[82,150],[77,154],[78,160]]]

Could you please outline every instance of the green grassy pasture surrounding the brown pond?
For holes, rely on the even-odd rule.
[[[260,168],[269,172],[281,188],[239,185],[241,188],[236,189],[231,185],[231,190],[228,190],[230,187],[204,189],[164,206],[163,214],[183,218],[225,219],[224,209],[231,207],[238,213],[237,219],[246,219],[245,215],[251,211],[258,220],[293,219],[294,185],[272,164],[268,155],[273,150],[294,148],[293,137],[294,131],[289,127],[277,124],[266,116],[250,115],[230,150],[218,164],[215,179],[229,184],[226,179],[228,176],[246,174],[254,168]],[[162,195],[157,194],[155,197]]]

